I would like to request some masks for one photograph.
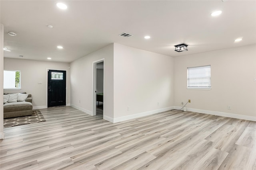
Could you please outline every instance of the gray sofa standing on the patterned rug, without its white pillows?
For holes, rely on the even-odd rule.
[[[32,96],[28,94],[25,102],[18,101],[4,104],[4,119],[32,115],[32,108]]]

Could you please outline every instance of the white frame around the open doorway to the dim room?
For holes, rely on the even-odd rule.
[[[97,72],[97,63],[101,63],[103,61],[103,115],[105,111],[105,94],[104,94],[104,84],[105,84],[105,58],[99,59],[92,62],[92,115],[96,115],[96,72]]]

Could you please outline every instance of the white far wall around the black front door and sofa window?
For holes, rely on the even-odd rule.
[[[33,109],[46,108],[47,96],[47,71],[48,69],[67,70],[68,75],[68,100],[66,104],[70,104],[70,71],[69,63],[56,63],[50,61],[33,61],[24,59],[4,58],[4,70],[20,70],[21,71],[21,90],[4,90],[5,93],[21,93],[26,92],[32,94]],[[38,84],[41,82],[42,84]]]

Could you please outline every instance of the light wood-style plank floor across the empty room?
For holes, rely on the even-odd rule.
[[[1,170],[255,170],[256,122],[166,111],[110,123],[72,107],[4,128]]]

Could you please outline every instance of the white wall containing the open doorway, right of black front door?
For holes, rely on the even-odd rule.
[[[70,63],[71,106],[92,115],[93,62],[105,58],[104,115],[113,117],[113,44]]]

